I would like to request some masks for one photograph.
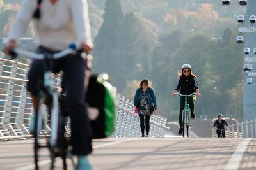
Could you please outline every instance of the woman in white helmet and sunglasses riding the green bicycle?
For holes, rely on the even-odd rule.
[[[183,64],[181,67],[181,73],[178,75],[175,90],[172,94],[173,97],[177,96],[176,92],[180,92],[180,94],[192,94],[196,92],[196,96],[200,97],[199,93],[199,85],[196,76],[191,71],[190,64]],[[188,104],[191,110],[191,118],[196,118],[194,112],[194,106],[196,101],[196,96],[192,95],[188,97]],[[179,134],[182,134],[182,110],[184,110],[185,105],[185,97],[180,96],[180,115],[179,115]]]

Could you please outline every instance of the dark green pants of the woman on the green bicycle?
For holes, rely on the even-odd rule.
[[[187,97],[187,103],[189,104],[191,113],[194,113],[195,101],[196,101],[195,95]],[[180,115],[179,115],[180,127],[182,127],[182,111],[184,110],[184,108],[185,108],[185,97],[180,96]]]

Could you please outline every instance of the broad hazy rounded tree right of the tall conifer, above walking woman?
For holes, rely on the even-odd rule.
[[[114,81],[117,87],[124,87],[127,81],[148,77],[150,74],[156,32],[152,31],[147,20],[129,13],[125,15],[116,33],[118,48]]]

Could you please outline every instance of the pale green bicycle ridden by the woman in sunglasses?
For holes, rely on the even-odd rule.
[[[179,92],[176,92],[176,94],[179,94],[180,96],[185,97],[185,106],[184,106],[184,109],[182,110],[182,136],[185,137],[185,127],[186,127],[186,134],[187,134],[187,137],[189,137],[189,128],[191,128],[192,121],[190,118],[191,110],[189,108],[189,104],[187,103],[187,98],[196,93],[183,95],[183,94],[180,94]]]

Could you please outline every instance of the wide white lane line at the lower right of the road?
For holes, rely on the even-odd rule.
[[[244,151],[246,150],[246,146],[253,138],[245,138],[239,146],[237,146],[236,151],[233,153],[230,158],[225,170],[237,170],[239,168],[239,164],[243,158]]]

